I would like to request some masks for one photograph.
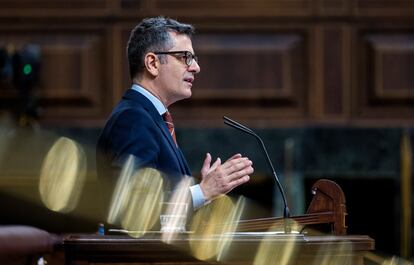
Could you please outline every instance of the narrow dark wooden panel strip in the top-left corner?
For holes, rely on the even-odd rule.
[[[108,15],[114,0],[2,0],[0,17],[96,17]]]

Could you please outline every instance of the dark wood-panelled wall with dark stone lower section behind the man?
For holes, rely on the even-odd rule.
[[[234,194],[258,201],[263,209],[256,215],[280,215],[257,143],[225,128],[221,117],[228,115],[264,137],[294,213],[306,210],[316,179],[333,179],[347,197],[349,232],[369,234],[378,250],[400,254],[400,142],[404,132],[413,140],[414,125],[411,1],[1,1],[0,47],[12,54],[30,43],[41,51],[39,81],[27,88],[36,118],[7,119],[22,111],[22,93],[1,75],[2,223],[57,232],[96,228],[99,209],[85,203],[96,195],[94,144],[130,84],[129,31],[155,15],[197,28],[202,72],[192,99],[172,108],[195,175],[207,151],[245,153],[256,173]],[[33,190],[61,135],[84,146],[88,158],[88,192],[71,214],[45,209]]]

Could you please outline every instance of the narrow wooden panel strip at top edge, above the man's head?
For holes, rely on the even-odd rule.
[[[153,0],[153,12],[168,16],[273,17],[313,13],[311,0]]]

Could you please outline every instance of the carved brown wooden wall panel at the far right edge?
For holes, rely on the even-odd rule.
[[[414,118],[414,31],[362,33],[359,111],[375,118]]]

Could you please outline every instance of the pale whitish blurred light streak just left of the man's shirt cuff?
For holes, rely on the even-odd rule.
[[[161,240],[171,243],[180,233],[186,232],[187,215],[190,205],[190,186],[193,178],[185,176],[174,189],[168,202],[162,203]]]

